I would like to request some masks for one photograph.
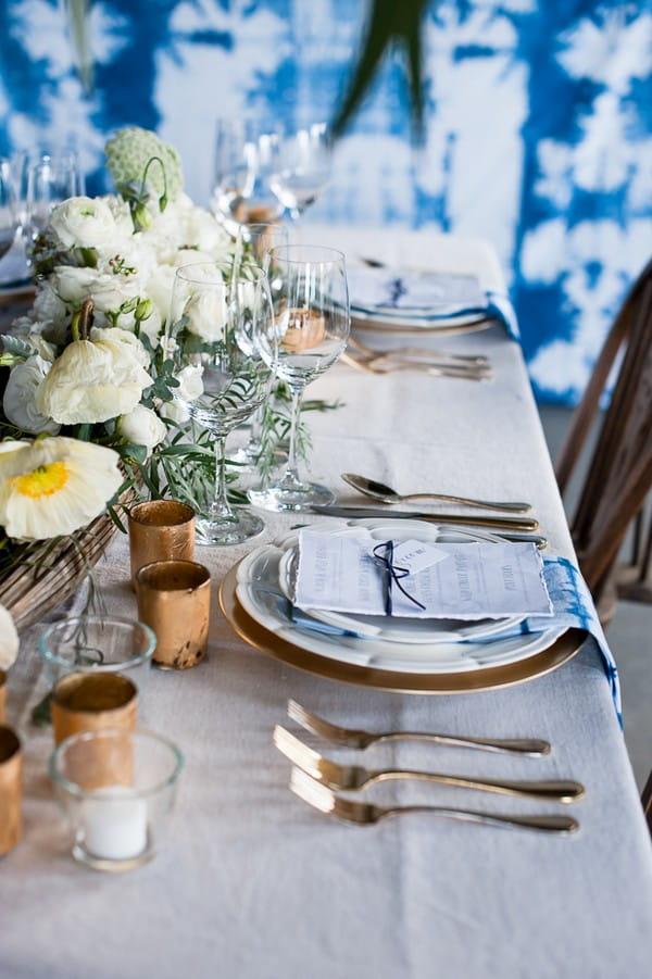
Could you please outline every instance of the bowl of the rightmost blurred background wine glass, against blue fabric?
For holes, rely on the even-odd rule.
[[[330,158],[326,123],[299,129],[280,142],[269,186],[292,218],[298,219],[328,183]]]

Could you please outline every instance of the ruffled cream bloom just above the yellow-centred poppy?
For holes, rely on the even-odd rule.
[[[54,361],[38,409],[62,425],[106,422],[128,415],[151,384],[127,344],[75,340]]]

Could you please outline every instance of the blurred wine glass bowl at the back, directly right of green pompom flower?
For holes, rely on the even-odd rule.
[[[269,187],[278,135],[251,120],[218,120],[213,205],[233,235],[247,222],[271,222],[283,208]]]

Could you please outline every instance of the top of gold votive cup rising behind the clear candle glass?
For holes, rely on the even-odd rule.
[[[138,691],[128,677],[117,673],[70,673],[52,688],[51,713],[55,744],[80,731],[133,731]]]

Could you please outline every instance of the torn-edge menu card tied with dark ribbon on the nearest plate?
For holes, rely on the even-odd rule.
[[[391,608],[391,615],[410,618],[553,614],[535,544],[396,541],[390,574],[383,543],[303,529],[294,604],[365,615]]]

